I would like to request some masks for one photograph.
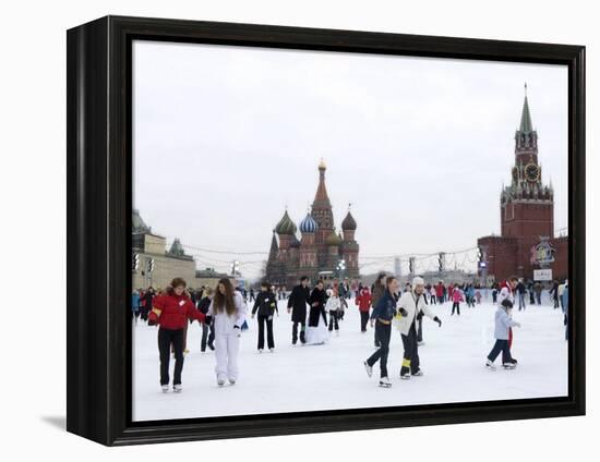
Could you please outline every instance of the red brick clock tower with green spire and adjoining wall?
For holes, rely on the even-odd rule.
[[[512,183],[500,196],[500,236],[477,241],[481,277],[501,281],[516,275],[529,280],[535,269],[552,269],[553,279],[567,278],[568,236],[554,238],[554,191],[542,181],[527,94],[515,133]]]

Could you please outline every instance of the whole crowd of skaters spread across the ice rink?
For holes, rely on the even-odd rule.
[[[278,301],[286,301],[287,312],[291,321],[291,343],[293,345],[323,345],[332,335],[339,336],[344,313],[349,308],[349,301],[355,299],[355,305],[360,313],[360,331],[373,329],[375,352],[364,362],[363,366],[369,377],[373,367],[380,365],[379,385],[389,388],[392,381],[387,370],[389,343],[393,327],[398,330],[403,341],[403,363],[399,372],[401,379],[422,376],[419,346],[423,342],[422,320],[431,318],[440,327],[442,320],[435,315],[433,305],[452,303],[451,316],[460,316],[460,304],[473,308],[481,303],[490,290],[493,303],[497,305],[494,315],[495,343],[487,356],[485,367],[495,369],[494,361],[502,353],[502,366],[515,368],[517,360],[511,354],[513,327],[520,324],[513,319],[513,307],[518,301],[518,309],[525,309],[527,292],[530,304],[539,304],[541,284],[525,283],[517,277],[482,288],[473,282],[444,284],[425,284],[421,277],[415,277],[403,288],[398,279],[381,272],[371,285],[360,282],[356,287],[347,280],[319,280],[310,288],[308,277],[302,277],[300,283],[290,292],[277,290],[268,281],[262,281],[260,290],[249,291],[235,288],[231,280],[223,278],[215,289],[202,287],[193,290],[187,287],[181,278],[175,278],[165,290],[149,287],[146,290],[134,290],[131,300],[132,317],[135,324],[139,319],[149,326],[158,326],[159,376],[164,392],[169,390],[169,363],[171,354],[175,358],[172,389],[180,392],[181,376],[187,348],[188,326],[197,320],[202,328],[201,351],[215,351],[216,381],[219,387],[229,382],[235,385],[239,376],[238,353],[241,332],[248,329],[248,304],[251,319],[256,317],[259,353],[266,348],[275,351],[273,321],[279,316]],[[568,281],[554,281],[549,289],[554,308],[561,307],[564,313],[565,338],[568,338]]]

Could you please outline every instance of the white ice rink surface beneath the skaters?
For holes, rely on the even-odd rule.
[[[483,301],[485,302],[485,301]],[[424,318],[425,344],[419,348],[422,377],[399,379],[403,360],[400,335],[393,330],[388,360],[393,387],[377,386],[379,364],[372,378],[362,362],[373,353],[373,329],[360,332],[358,307],[349,301],[339,337],[325,345],[292,345],[290,315],[279,302],[274,320],[275,352],[256,352],[257,326],[241,337],[240,376],[235,386],[217,387],[215,356],[201,353],[201,328],[193,323],[182,375],[182,393],[164,394],[159,386],[157,328],[140,323],[134,327],[133,420],[193,418],[242,414],[301,412],[357,408],[397,406],[567,394],[567,342],[563,315],[550,302],[514,312],[523,324],[515,328],[515,370],[484,367],[493,345],[495,306],[491,301],[451,316],[452,303],[433,305],[442,328]],[[249,313],[252,306],[249,305]],[[171,380],[175,361],[171,360]],[[500,358],[496,360],[496,364]]]

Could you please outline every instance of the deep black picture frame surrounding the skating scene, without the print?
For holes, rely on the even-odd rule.
[[[131,420],[134,39],[568,66],[568,397],[182,421]],[[106,16],[67,34],[67,429],[107,446],[585,414],[585,47]]]

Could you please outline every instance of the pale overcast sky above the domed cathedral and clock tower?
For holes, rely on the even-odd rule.
[[[559,230],[566,66],[136,41],[134,206],[169,242],[266,253],[286,206],[305,216],[323,158],[361,256],[475,247],[500,234],[525,82]],[[199,268],[250,262],[248,277],[266,257],[188,252]]]

